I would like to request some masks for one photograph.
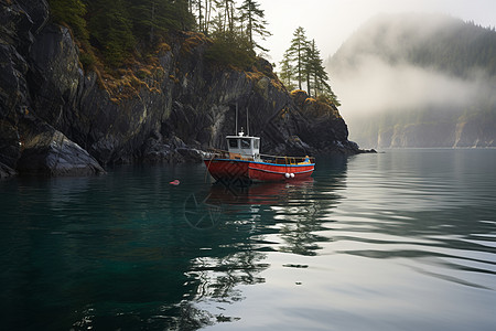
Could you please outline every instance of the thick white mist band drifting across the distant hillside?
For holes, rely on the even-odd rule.
[[[494,89],[482,73],[462,79],[407,63],[389,64],[375,56],[359,57],[355,68],[334,76],[332,86],[342,102],[342,115],[352,121],[385,110],[470,107]]]

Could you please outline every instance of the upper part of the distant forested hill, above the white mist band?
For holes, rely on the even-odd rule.
[[[401,62],[467,77],[496,74],[496,31],[439,14],[378,15],[364,24],[331,60],[333,72],[363,56]]]

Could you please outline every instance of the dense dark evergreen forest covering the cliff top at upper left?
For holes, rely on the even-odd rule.
[[[52,20],[69,26],[82,50],[85,67],[98,62],[118,67],[145,61],[168,46],[174,33],[202,32],[212,38],[211,58],[248,67],[255,50],[265,50],[263,11],[254,0],[236,7],[234,0],[50,0]]]

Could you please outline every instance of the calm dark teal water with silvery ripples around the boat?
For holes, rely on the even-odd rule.
[[[0,181],[0,329],[494,330],[496,150],[316,162]]]

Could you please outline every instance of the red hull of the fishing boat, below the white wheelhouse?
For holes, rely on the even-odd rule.
[[[277,182],[305,179],[312,175],[315,163],[274,164],[268,162],[212,159],[205,160],[211,175],[222,181]]]

